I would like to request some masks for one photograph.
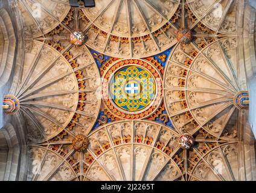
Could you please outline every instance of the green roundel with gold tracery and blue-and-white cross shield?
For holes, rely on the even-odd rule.
[[[115,105],[128,112],[145,109],[155,96],[155,78],[147,69],[129,65],[110,80],[110,96]]]

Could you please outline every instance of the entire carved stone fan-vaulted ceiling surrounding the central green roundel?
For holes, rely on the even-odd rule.
[[[96,7],[75,9],[68,1],[47,0],[53,6],[43,7],[43,16],[34,20],[38,25],[27,25],[32,1],[36,2],[19,3],[28,19],[26,36],[40,36],[25,42],[17,92],[30,143],[39,144],[30,145],[28,179],[238,179],[238,110],[233,101],[239,90],[234,57],[237,1],[97,0]],[[178,43],[174,35],[182,19],[197,34],[187,45]],[[94,56],[102,66],[103,81],[89,49],[69,42],[73,28],[88,34],[86,46],[97,51]],[[165,67],[153,66],[155,59],[146,58],[172,46],[168,57],[166,52],[162,58],[158,55],[162,63],[166,60]],[[114,58],[104,61],[106,55]],[[108,100],[112,76],[126,66],[139,66],[139,72],[155,78],[154,95],[148,98],[156,102],[140,104],[140,112],[133,103],[138,112],[127,113],[118,106],[125,103],[118,95],[116,101]],[[122,84],[120,89],[132,90],[129,86]],[[103,106],[104,115],[97,121]],[[155,115],[164,124],[149,121]],[[169,120],[171,127],[166,126]],[[92,130],[95,122],[100,126]],[[184,133],[194,140],[186,150],[179,144]],[[86,147],[75,141],[78,135],[86,136]]]

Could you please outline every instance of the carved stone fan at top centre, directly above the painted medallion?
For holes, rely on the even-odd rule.
[[[146,57],[170,48],[176,39],[171,22],[177,1],[97,0],[83,8],[86,45],[113,57]]]

